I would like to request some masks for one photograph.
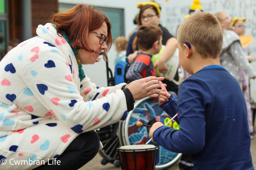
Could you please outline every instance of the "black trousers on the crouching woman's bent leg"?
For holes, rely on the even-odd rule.
[[[99,151],[100,139],[95,131],[81,133],[64,152],[54,160],[49,160],[35,170],[76,170],[92,160]],[[58,161],[59,160],[59,161]],[[57,163],[57,161],[59,163]],[[58,165],[60,164],[60,165]]]

